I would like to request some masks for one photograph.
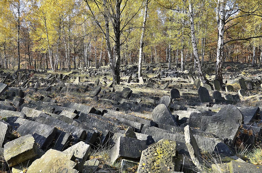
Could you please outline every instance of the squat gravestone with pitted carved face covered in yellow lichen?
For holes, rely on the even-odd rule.
[[[161,139],[142,152],[137,173],[174,171],[176,141]]]

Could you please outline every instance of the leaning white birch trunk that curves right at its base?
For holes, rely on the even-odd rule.
[[[198,56],[198,49],[196,45],[196,37],[195,37],[195,26],[194,26],[194,17],[193,17],[193,4],[189,0],[189,16],[190,16],[190,30],[191,30],[191,41],[192,41],[192,48],[193,48],[193,54],[194,54],[194,59],[196,63],[196,68],[198,70],[198,75],[203,84],[209,84],[208,80],[206,80],[202,69],[201,69],[201,64],[199,61],[199,56]],[[209,84],[210,85],[210,84]]]

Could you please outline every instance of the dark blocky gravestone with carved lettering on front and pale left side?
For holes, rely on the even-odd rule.
[[[110,161],[114,163],[122,158],[138,160],[146,147],[146,141],[120,136],[111,149]]]

